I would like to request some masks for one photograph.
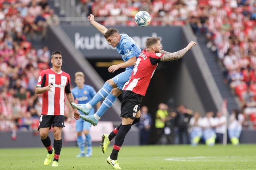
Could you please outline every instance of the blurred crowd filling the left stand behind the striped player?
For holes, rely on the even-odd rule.
[[[30,41],[41,41],[47,24],[58,24],[47,0],[0,0],[0,131],[12,131],[13,139],[16,130],[37,133],[42,95],[35,87],[50,51]]]

